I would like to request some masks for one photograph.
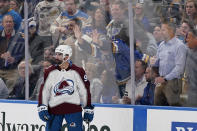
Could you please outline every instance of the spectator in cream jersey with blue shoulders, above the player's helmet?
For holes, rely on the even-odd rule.
[[[92,18],[90,16],[77,9],[76,0],[66,0],[65,9],[66,10],[57,17],[57,19],[54,21],[50,28],[52,34],[60,33],[58,44],[62,43],[62,41],[69,37],[70,32],[67,29],[67,25],[70,19],[77,18],[81,20],[81,30],[91,26],[92,23]]]

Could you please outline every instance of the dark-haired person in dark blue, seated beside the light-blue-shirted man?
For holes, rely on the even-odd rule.
[[[147,67],[145,77],[147,86],[144,88],[143,96],[135,103],[139,105],[154,105],[155,78],[159,76],[157,67]]]

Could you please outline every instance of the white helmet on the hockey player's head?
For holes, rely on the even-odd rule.
[[[66,55],[69,56],[69,58],[72,56],[72,48],[69,45],[59,45],[55,49],[55,53],[62,53],[63,58],[65,58]]]

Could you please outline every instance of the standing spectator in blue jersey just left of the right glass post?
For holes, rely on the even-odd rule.
[[[126,82],[130,77],[130,59],[128,55],[129,53],[128,24],[129,23],[125,15],[125,7],[126,7],[125,3],[122,1],[112,2],[110,6],[112,20],[106,26],[107,36],[109,40],[114,40],[114,42],[112,42],[111,51],[113,54],[115,54],[114,59],[116,62],[116,69],[115,69],[116,80],[120,91],[120,97],[123,96],[124,94],[123,90],[125,89]],[[118,37],[119,40],[117,40],[117,38],[115,39],[115,36]],[[116,48],[116,46],[121,46],[121,47]],[[124,68],[122,68],[122,66],[124,66]]]

